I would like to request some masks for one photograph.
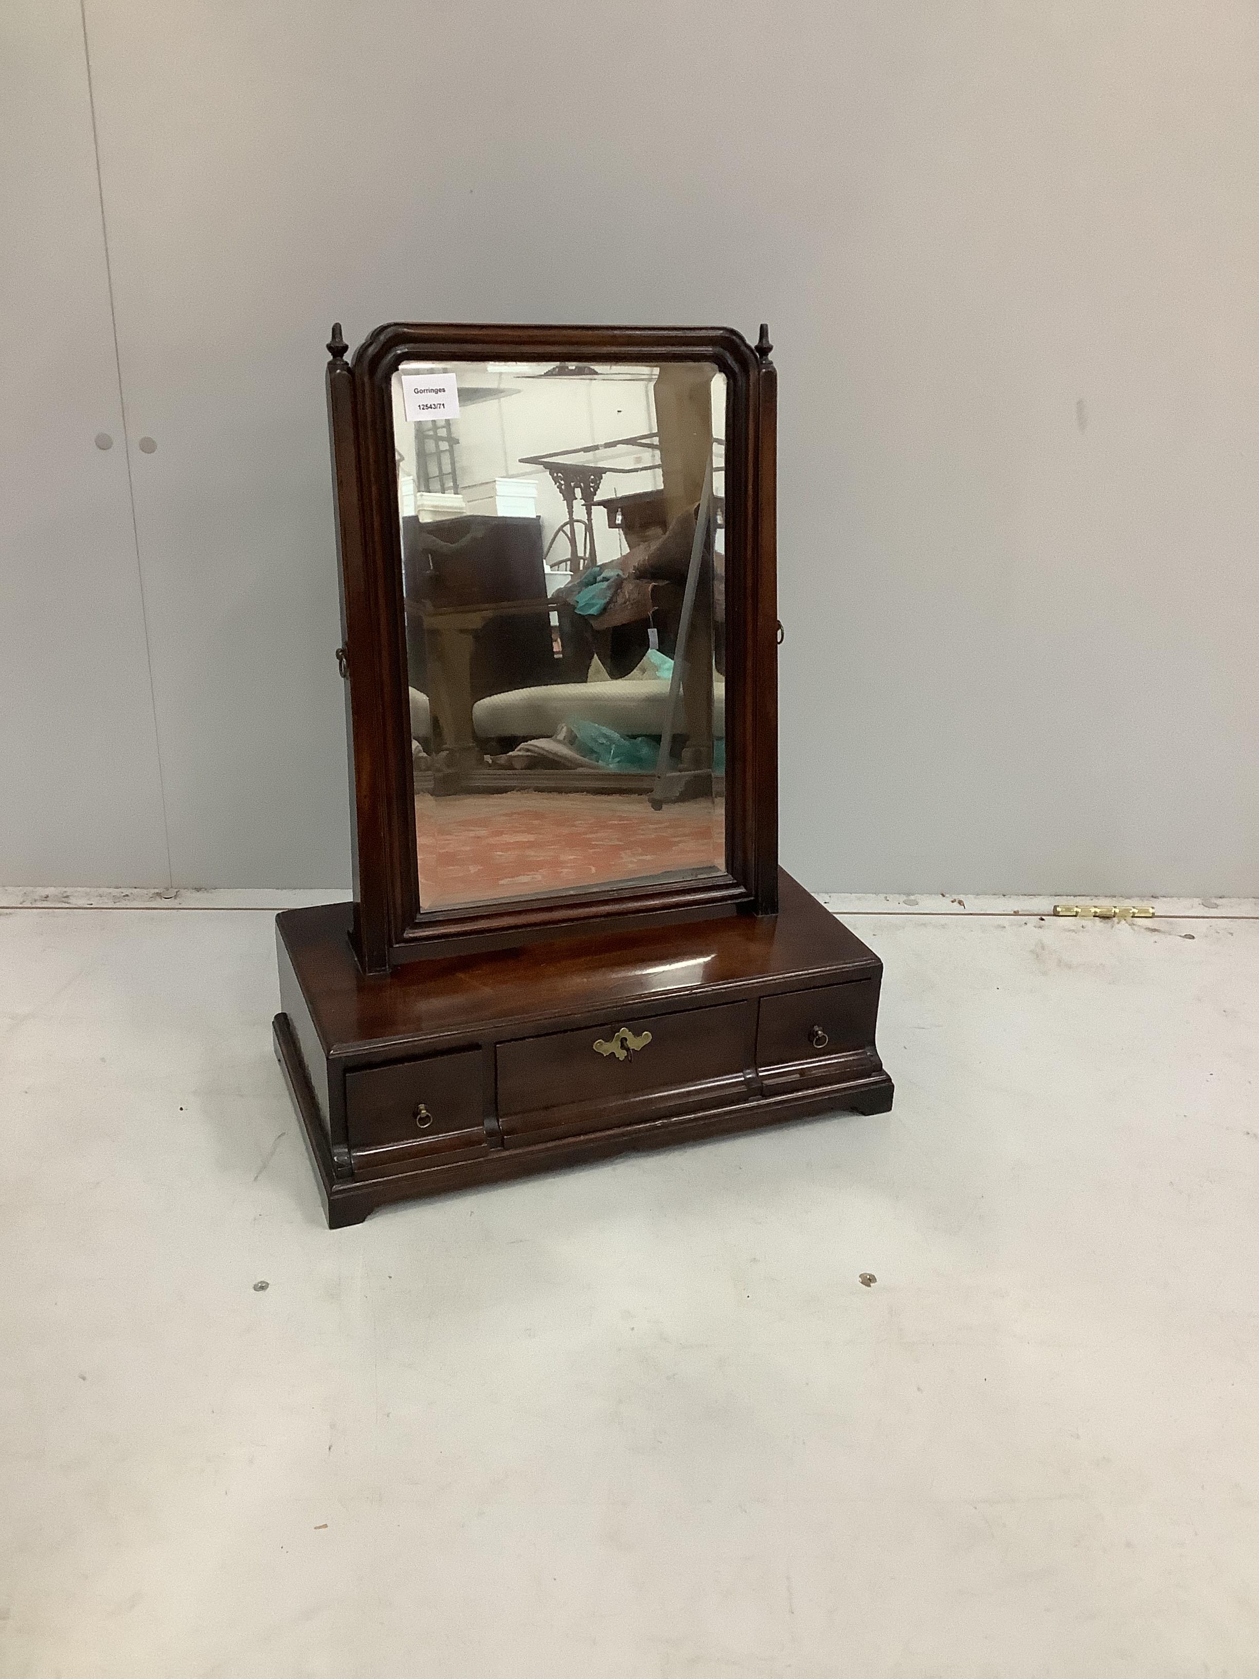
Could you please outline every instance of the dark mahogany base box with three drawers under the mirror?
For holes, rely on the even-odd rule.
[[[789,875],[777,917],[363,974],[351,905],[275,920],[275,1053],[334,1229],[630,1148],[886,1113],[883,964]]]

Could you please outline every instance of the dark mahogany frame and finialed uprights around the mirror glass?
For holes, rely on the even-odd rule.
[[[777,912],[777,374],[767,329],[391,322],[327,344],[354,804],[351,942],[364,972],[564,932]],[[425,910],[420,903],[391,381],[406,361],[708,361],[727,381],[724,873]]]

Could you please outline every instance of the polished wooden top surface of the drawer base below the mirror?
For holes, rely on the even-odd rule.
[[[329,1053],[374,1051],[394,1039],[467,1039],[494,1028],[527,1036],[588,1019],[648,1012],[666,999],[695,1007],[881,970],[878,957],[791,875],[777,917],[650,927],[608,937],[557,937],[473,957],[408,962],[363,974],[349,947],[351,905],[285,910],[277,928]]]

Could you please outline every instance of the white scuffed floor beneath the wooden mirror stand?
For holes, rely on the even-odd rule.
[[[0,913],[0,1674],[1259,1672],[1259,920],[853,925],[891,1115],[329,1232],[270,915]]]

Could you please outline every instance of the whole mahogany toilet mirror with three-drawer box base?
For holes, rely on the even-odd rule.
[[[354,900],[279,917],[275,1044],[329,1222],[890,1106],[880,964],[777,868],[767,331],[327,349]]]

